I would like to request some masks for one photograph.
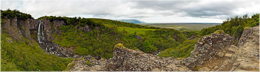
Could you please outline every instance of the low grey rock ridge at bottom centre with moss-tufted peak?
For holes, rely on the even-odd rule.
[[[158,57],[146,54],[140,50],[125,48],[117,44],[114,48],[113,58],[96,60],[89,59],[91,67],[83,67],[80,71],[190,71],[181,63],[180,58]],[[158,68],[157,68],[158,67]],[[77,69],[71,69],[75,71]]]

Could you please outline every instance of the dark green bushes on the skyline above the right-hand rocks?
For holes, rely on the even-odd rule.
[[[209,35],[217,30],[223,30],[224,33],[229,34],[230,36],[239,39],[246,27],[254,27],[259,25],[259,13],[253,14],[251,18],[248,17],[247,14],[244,16],[234,16],[229,17],[226,21],[223,21],[221,25],[204,28],[202,29],[198,35]]]

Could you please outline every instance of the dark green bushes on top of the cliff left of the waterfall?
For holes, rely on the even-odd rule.
[[[22,12],[20,12],[18,10],[10,10],[10,9],[1,10],[1,19],[4,19],[5,16],[7,16],[7,18],[17,17],[17,19],[21,19],[21,20],[26,20],[28,18],[33,18],[33,17],[31,17],[30,14],[25,14],[25,13],[22,13]]]

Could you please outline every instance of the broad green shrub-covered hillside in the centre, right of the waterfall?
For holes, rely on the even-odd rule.
[[[174,29],[97,18],[43,16],[38,19],[44,18],[50,22],[53,20],[66,22],[57,28],[62,31],[61,34],[52,34],[53,42],[62,47],[75,47],[74,53],[79,55],[111,58],[113,47],[117,43],[122,43],[131,49],[156,54],[157,50],[178,46],[187,40],[183,33]]]

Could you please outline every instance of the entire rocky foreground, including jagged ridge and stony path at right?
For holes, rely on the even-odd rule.
[[[233,40],[221,31],[203,36],[185,59],[153,56],[117,44],[113,58],[79,58],[92,66],[74,61],[68,71],[259,71],[259,26],[246,29],[238,47],[232,45]]]

